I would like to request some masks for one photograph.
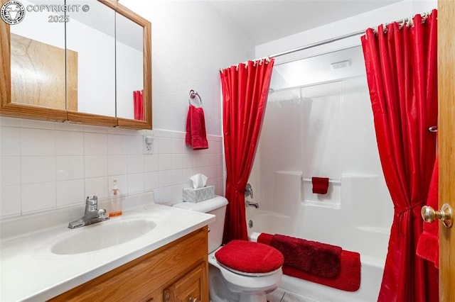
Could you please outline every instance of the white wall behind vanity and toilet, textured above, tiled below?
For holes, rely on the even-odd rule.
[[[52,211],[107,196],[154,190],[181,200],[188,177],[203,173],[223,193],[219,69],[253,57],[254,46],[200,1],[122,1],[152,23],[154,155],[134,130],[0,118],[0,217]],[[209,149],[184,145],[188,92],[203,99]]]

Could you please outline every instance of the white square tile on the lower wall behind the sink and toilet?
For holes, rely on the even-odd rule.
[[[122,194],[153,190],[156,203],[181,201],[197,173],[223,194],[221,137],[192,150],[185,134],[154,130],[154,154],[143,155],[141,131],[0,117],[0,218],[106,198],[114,178]]]

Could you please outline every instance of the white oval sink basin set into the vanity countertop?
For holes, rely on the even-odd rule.
[[[75,233],[56,242],[51,252],[72,255],[101,250],[136,239],[155,227],[156,223],[146,218],[107,220],[73,230]]]

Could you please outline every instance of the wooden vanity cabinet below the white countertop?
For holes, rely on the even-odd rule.
[[[50,301],[208,302],[207,255],[205,226]]]

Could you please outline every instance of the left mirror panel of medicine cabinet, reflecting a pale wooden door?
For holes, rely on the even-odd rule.
[[[65,110],[65,23],[37,11],[10,28],[11,102]]]

